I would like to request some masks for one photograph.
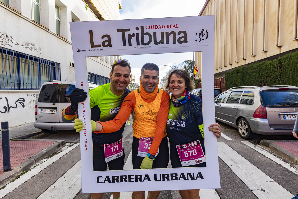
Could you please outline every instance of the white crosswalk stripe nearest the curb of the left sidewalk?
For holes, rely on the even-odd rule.
[[[16,179],[15,181],[7,184],[3,189],[0,190],[0,198],[3,198],[6,194],[16,189],[18,186],[32,178],[34,175],[38,174],[40,171],[45,169],[47,166],[51,165],[55,161],[57,161],[59,158],[61,158],[63,155],[70,152],[72,149],[80,145],[80,143],[76,143],[73,146],[69,146],[70,143],[67,143],[68,145],[63,147],[61,150],[62,152],[52,156],[51,158],[47,159],[46,161],[42,163],[36,163],[38,166],[33,167],[30,171],[25,173],[24,175],[21,175],[20,178]],[[43,161],[43,160],[42,160]]]

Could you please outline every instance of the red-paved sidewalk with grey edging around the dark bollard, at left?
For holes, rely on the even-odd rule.
[[[0,133],[0,183],[17,176],[66,144],[64,140],[28,139],[40,133],[42,133],[41,130],[36,129],[33,122],[9,129],[11,169],[5,172],[3,171],[2,133]]]

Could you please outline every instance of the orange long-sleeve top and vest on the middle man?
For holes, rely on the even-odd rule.
[[[137,99],[136,99],[136,95],[137,95]],[[135,90],[129,93],[125,97],[117,116],[113,120],[110,120],[107,122],[100,122],[101,125],[103,126],[103,129],[100,132],[95,132],[95,133],[108,133],[108,132],[115,132],[119,130],[122,127],[122,125],[126,122],[126,120],[129,118],[131,114],[131,110],[134,109],[136,117],[133,122],[133,130],[134,130],[133,136],[135,136],[136,138],[153,137],[153,141],[148,152],[152,155],[156,155],[156,152],[158,150],[160,142],[162,141],[162,138],[164,138],[167,135],[165,132],[165,126],[167,123],[167,116],[170,108],[170,96],[167,92],[161,89],[158,89],[157,95],[155,94],[156,97],[152,100],[147,100],[143,98],[142,95],[140,95],[142,98],[142,100],[140,100],[138,95],[139,95],[138,90]],[[158,102],[160,104],[156,104],[157,97],[159,97],[160,99],[160,102]],[[145,102],[144,106],[140,105],[142,101]],[[139,104],[136,104],[136,103],[139,103]],[[146,103],[150,103],[151,106],[148,107],[148,104],[146,106],[145,105]],[[144,108],[145,106],[149,111],[142,112],[137,110],[138,108],[141,109],[141,108]],[[154,107],[159,107],[159,110],[156,116],[151,114],[152,112],[154,114]],[[148,124],[147,122],[151,124],[147,125]]]

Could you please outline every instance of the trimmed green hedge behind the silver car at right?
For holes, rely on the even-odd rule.
[[[225,81],[227,88],[265,84],[298,87],[298,51],[226,72]]]

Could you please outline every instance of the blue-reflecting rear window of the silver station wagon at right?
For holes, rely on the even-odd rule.
[[[260,92],[263,107],[298,107],[298,90],[273,90]]]

